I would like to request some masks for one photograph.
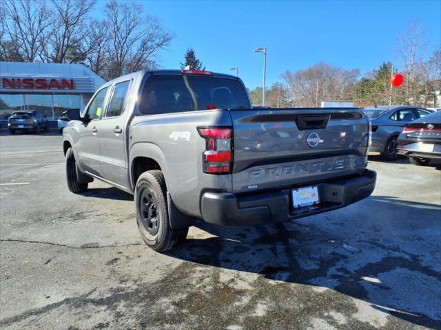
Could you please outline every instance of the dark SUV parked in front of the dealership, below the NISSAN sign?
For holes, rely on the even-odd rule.
[[[39,111],[14,111],[8,119],[8,129],[11,134],[16,131],[49,131],[49,122]]]

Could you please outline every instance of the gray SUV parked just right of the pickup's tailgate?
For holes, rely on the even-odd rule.
[[[404,124],[429,115],[431,111],[415,106],[378,106],[365,108],[372,124],[371,150],[387,160],[397,158],[397,138]]]

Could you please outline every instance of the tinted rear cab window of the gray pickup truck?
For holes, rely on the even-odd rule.
[[[239,80],[212,76],[151,76],[141,96],[142,113],[174,113],[209,109],[249,109]]]

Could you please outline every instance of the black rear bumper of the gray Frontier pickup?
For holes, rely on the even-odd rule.
[[[205,192],[201,199],[204,221],[217,225],[258,225],[307,217],[342,208],[369,197],[376,185],[376,172],[365,170],[358,177],[318,182],[320,205],[293,210],[291,189],[238,196]]]

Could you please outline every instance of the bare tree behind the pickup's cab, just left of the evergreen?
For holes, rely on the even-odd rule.
[[[106,5],[105,17],[110,37],[106,78],[151,67],[158,50],[172,40],[172,35],[156,19],[143,14],[139,3],[111,0]]]

